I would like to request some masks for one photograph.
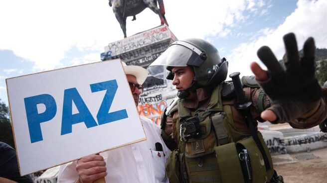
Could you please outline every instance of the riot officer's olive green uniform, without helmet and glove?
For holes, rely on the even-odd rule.
[[[258,161],[263,163],[262,155],[251,140],[252,138],[248,139],[251,137],[249,127],[244,116],[234,107],[235,99],[224,98],[221,88],[222,85],[214,89],[198,89],[197,100],[179,99],[175,106],[167,111],[167,115],[163,115],[163,139],[168,148],[173,151],[166,164],[170,182],[226,183],[244,181],[243,176],[245,175],[242,174],[237,157],[239,152],[236,148],[238,148],[237,146],[244,147],[246,143],[249,144],[249,147],[245,148],[249,152],[252,164],[252,181],[263,183],[269,182],[272,178],[274,172],[271,155],[260,132],[258,132],[259,137],[268,156],[270,170],[265,170],[264,165],[255,165],[256,163],[260,164]],[[260,113],[270,106],[270,100],[260,88],[244,87],[243,90],[246,99],[252,101],[250,112],[252,121],[257,126],[256,121],[263,121]],[[200,110],[197,110],[199,108]],[[320,100],[319,105],[313,110],[289,123],[294,128],[310,128],[318,125],[326,117],[326,111],[327,106],[323,100]],[[180,137],[182,134],[180,133],[180,124],[185,121],[185,118],[194,115],[201,116],[201,136],[185,142]],[[222,116],[221,124],[223,125],[217,124],[215,120],[217,117],[214,117],[216,115]],[[278,122],[284,123],[284,121]],[[222,135],[224,133],[226,133],[225,138]],[[257,154],[257,157],[254,154]],[[233,166],[228,167],[229,165]],[[221,170],[223,167],[230,170],[224,172]],[[176,179],[176,177],[178,178]]]

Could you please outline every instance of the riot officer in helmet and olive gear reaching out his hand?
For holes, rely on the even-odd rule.
[[[202,39],[172,43],[148,67],[152,76],[172,80],[178,90],[161,124],[163,139],[172,151],[166,162],[170,183],[283,182],[273,169],[258,122],[310,128],[327,117],[315,77],[314,39],[304,44],[302,58],[293,33],[285,35],[284,42],[286,69],[264,46],[257,54],[268,71],[252,63],[255,76],[242,77],[239,84],[238,74],[233,74],[235,82],[225,81],[228,62]],[[243,103],[238,101],[242,95]]]

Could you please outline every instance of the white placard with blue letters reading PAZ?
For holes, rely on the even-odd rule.
[[[119,59],[6,84],[21,175],[146,139]]]

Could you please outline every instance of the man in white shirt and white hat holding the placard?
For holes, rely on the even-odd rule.
[[[135,104],[138,105],[148,72],[140,66],[123,65]],[[93,183],[103,177],[106,183],[169,183],[164,165],[171,152],[161,138],[160,128],[150,119],[140,118],[147,135],[146,141],[62,165],[58,183]]]

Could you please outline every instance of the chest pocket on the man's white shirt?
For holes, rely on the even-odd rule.
[[[150,151],[150,159],[152,163],[153,173],[156,179],[156,183],[164,183],[166,181],[165,175],[165,162],[163,151]]]

